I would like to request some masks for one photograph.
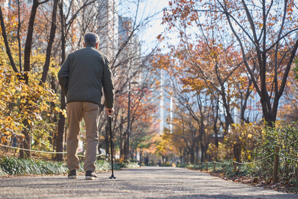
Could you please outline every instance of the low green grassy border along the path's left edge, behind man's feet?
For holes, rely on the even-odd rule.
[[[106,160],[97,160],[95,162],[95,172],[105,172],[111,170],[111,163]],[[137,168],[136,163],[114,164],[114,169],[120,168]],[[65,162],[53,162],[35,159],[18,159],[15,157],[0,157],[0,176],[8,175],[48,175],[48,174],[66,174],[68,168]],[[83,162],[79,164],[78,172],[84,172]]]

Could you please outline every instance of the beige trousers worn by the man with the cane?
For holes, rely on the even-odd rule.
[[[78,170],[79,159],[77,147],[80,123],[86,123],[86,153],[84,171],[94,171],[98,145],[99,105],[86,101],[74,101],[67,104],[68,135],[67,135],[67,166],[70,171]]]

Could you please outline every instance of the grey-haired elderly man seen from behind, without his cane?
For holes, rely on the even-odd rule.
[[[84,47],[68,55],[58,79],[67,98],[68,136],[67,165],[69,179],[77,178],[78,137],[82,118],[86,123],[86,154],[84,161],[85,179],[97,179],[95,171],[98,145],[98,122],[102,88],[107,114],[114,109],[114,81],[108,58],[98,49],[99,37],[88,32],[84,35]]]

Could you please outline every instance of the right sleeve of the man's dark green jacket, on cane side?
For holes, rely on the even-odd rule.
[[[107,108],[114,107],[115,91],[114,91],[114,79],[112,76],[112,71],[110,67],[110,62],[105,58],[105,64],[103,67],[103,76],[102,76],[102,87],[105,98],[105,106]]]

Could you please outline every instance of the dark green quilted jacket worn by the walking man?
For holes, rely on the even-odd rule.
[[[89,101],[100,106],[103,88],[105,106],[114,107],[114,80],[110,63],[92,44],[68,55],[58,79],[67,103]]]

